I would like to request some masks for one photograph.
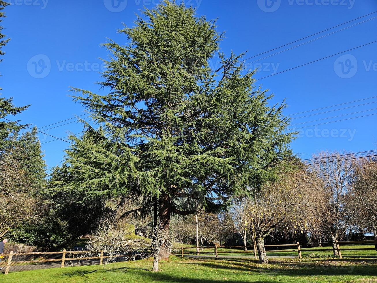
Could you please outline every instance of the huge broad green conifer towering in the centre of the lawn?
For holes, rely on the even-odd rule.
[[[143,14],[120,31],[126,46],[105,44],[109,94],[73,89],[103,130],[86,125],[100,142],[73,138],[66,164],[77,179],[62,187],[88,198],[143,195],[169,229],[172,214],[216,211],[224,197],[257,190],[291,155],[293,135],[284,104],[268,106],[243,54],[219,54],[221,68],[211,70],[222,38],[215,21],[168,1]]]

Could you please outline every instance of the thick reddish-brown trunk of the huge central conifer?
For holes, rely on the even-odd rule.
[[[162,193],[159,201],[160,209],[159,209],[159,221],[161,228],[166,232],[169,233],[169,225],[170,225],[170,215],[172,214],[171,209],[171,199],[169,195],[166,193]],[[170,255],[170,248],[168,243],[165,242],[162,244],[161,249],[159,251],[159,260],[167,259]]]

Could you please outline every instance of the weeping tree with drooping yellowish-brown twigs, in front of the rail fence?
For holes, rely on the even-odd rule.
[[[320,231],[324,199],[318,179],[307,172],[302,164],[294,163],[282,166],[276,174],[278,179],[262,187],[250,201],[248,211],[256,235],[260,263],[268,263],[264,238],[271,232],[288,237],[293,233]]]

